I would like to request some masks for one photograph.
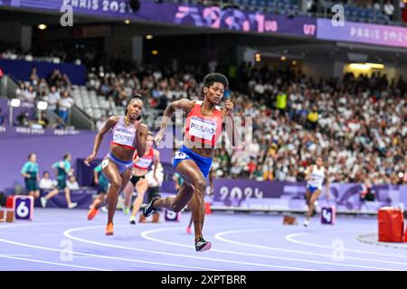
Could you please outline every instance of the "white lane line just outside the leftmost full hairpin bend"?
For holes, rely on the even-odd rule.
[[[39,223],[39,224],[15,224],[6,226],[6,227],[0,227],[0,228],[14,228],[14,227],[26,227],[26,226],[35,226],[35,225],[44,225],[45,223]],[[60,223],[49,223],[49,224],[58,224],[61,225]],[[99,226],[103,227],[104,226]],[[114,256],[104,256],[104,255],[96,255],[96,254],[88,254],[88,253],[80,253],[80,252],[74,252],[74,251],[67,251],[67,250],[61,250],[61,249],[55,249],[52,247],[41,247],[41,246],[34,246],[30,244],[24,244],[20,242],[14,242],[11,240],[7,240],[4,238],[0,238],[0,242],[7,243],[7,244],[12,244],[16,246],[22,246],[22,247],[33,247],[37,249],[42,249],[46,251],[52,251],[52,252],[63,252],[64,254],[66,253],[71,253],[71,254],[76,254],[80,256],[91,256],[91,257],[99,257],[99,258],[104,258],[104,259],[112,259],[112,260],[119,260],[119,261],[128,261],[132,263],[141,263],[141,264],[149,264],[149,265],[159,265],[159,266],[172,266],[172,267],[179,267],[179,268],[187,268],[187,269],[195,269],[195,270],[206,270],[206,271],[220,271],[217,269],[212,269],[212,268],[204,268],[204,267],[198,267],[198,266],[183,266],[183,265],[177,265],[177,264],[167,264],[167,263],[158,263],[158,262],[152,262],[152,261],[144,261],[144,260],[137,260],[137,259],[128,259],[128,258],[122,258],[122,257],[114,257]]]

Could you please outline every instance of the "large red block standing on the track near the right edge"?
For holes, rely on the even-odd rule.
[[[404,216],[402,210],[383,207],[377,214],[379,242],[402,242]]]

